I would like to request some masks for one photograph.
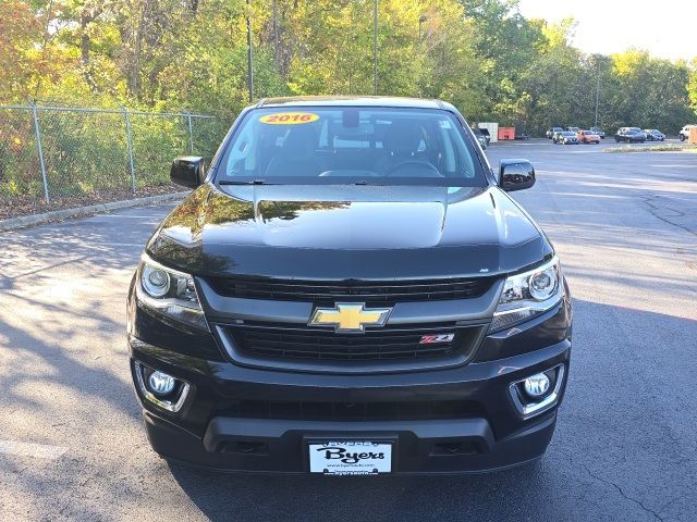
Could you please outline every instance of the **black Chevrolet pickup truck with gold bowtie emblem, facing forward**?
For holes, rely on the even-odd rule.
[[[147,243],[127,302],[149,442],[219,470],[463,473],[539,459],[571,357],[550,241],[450,104],[262,100]]]

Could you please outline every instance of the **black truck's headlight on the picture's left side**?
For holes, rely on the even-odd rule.
[[[191,275],[162,266],[144,253],[136,279],[136,297],[145,307],[180,323],[209,331]]]

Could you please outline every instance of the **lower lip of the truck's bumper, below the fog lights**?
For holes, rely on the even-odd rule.
[[[539,459],[557,412],[497,440],[484,419],[366,422],[215,418],[203,439],[145,411],[152,449],[160,456],[217,471],[307,473],[309,440],[338,437],[394,440],[394,474],[458,474],[503,470]]]

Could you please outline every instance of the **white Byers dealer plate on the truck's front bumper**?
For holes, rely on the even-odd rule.
[[[310,473],[377,475],[392,471],[392,445],[339,440],[309,445]]]

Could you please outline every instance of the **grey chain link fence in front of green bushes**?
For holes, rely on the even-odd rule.
[[[172,159],[210,160],[227,129],[204,114],[0,105],[0,220],[172,190]]]

